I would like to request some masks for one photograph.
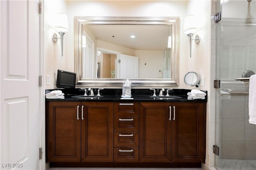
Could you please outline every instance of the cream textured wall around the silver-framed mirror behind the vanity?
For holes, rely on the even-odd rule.
[[[74,10],[76,9],[76,10]],[[56,32],[53,28],[52,15],[63,12],[68,15],[69,32],[64,36],[64,56],[60,54],[60,42],[52,42],[52,34]],[[192,57],[189,57],[188,37],[183,34],[184,18],[188,15],[196,15],[199,18],[199,30],[196,32],[201,38],[199,44],[192,42]],[[118,16],[118,17],[180,17],[179,36],[179,76],[180,89],[196,89],[196,87],[186,86],[183,77],[188,71],[196,71],[201,76],[205,76],[205,86],[198,89],[208,91],[208,103],[210,103],[210,0],[153,0],[153,1],[44,1],[44,55],[45,74],[51,75],[51,84],[46,85],[46,89],[56,87],[57,69],[74,71],[74,16]],[[212,113],[215,114],[215,113]],[[211,133],[209,135],[210,107],[207,107],[207,154],[206,166],[209,166],[209,142],[212,142]],[[212,119],[212,118],[211,118]],[[212,159],[212,158],[211,158]],[[214,161],[214,160],[213,160]],[[212,163],[211,165],[212,166]]]

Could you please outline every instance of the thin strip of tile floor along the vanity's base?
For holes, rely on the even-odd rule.
[[[202,168],[49,168],[48,170],[202,170]]]

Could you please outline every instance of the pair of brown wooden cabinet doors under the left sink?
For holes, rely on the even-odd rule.
[[[112,162],[113,102],[49,102],[49,162]]]

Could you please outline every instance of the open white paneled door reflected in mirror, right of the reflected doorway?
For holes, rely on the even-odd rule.
[[[139,78],[139,57],[120,54],[120,79]]]

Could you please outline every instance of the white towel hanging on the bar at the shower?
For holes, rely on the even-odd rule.
[[[256,75],[250,77],[249,84],[249,123],[256,125]]]

